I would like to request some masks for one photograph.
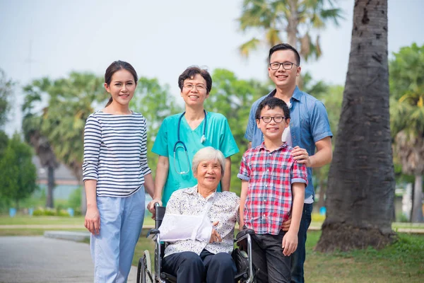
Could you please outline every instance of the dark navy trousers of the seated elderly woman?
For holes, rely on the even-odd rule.
[[[178,283],[234,283],[237,272],[229,253],[200,255],[193,252],[174,253],[163,258],[163,271],[177,277]]]

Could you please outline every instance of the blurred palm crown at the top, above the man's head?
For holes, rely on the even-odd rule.
[[[272,47],[280,42],[300,50],[305,60],[321,55],[319,30],[328,21],[338,25],[341,9],[334,0],[245,0],[242,16],[238,18],[240,29],[259,30],[263,38],[253,37],[240,45],[242,56],[248,57],[259,45]],[[328,8],[327,8],[328,7]]]

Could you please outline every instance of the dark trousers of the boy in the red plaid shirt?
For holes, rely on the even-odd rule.
[[[253,235],[252,260],[258,283],[290,283],[290,257],[283,255],[284,231],[278,235]]]

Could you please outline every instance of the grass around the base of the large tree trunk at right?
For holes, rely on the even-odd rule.
[[[314,252],[320,231],[308,232],[307,282],[424,282],[424,235],[399,233],[399,241],[382,250],[350,253]]]

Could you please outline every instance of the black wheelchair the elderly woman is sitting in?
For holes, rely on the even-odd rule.
[[[177,278],[173,275],[162,271],[162,259],[165,251],[166,243],[160,241],[160,231],[158,230],[162,224],[163,216],[165,215],[165,207],[155,207],[155,229],[148,232],[147,237],[155,241],[154,267],[152,271],[151,256],[148,250],[145,250],[143,257],[139,259],[137,267],[137,283],[176,283]],[[235,248],[232,251],[232,258],[237,267],[237,273],[234,282],[254,283],[254,267],[252,265],[252,238],[254,234],[252,229],[240,231],[235,238],[237,246],[242,246],[242,249]],[[247,250],[247,253],[246,251]],[[199,282],[201,283],[201,282]]]

